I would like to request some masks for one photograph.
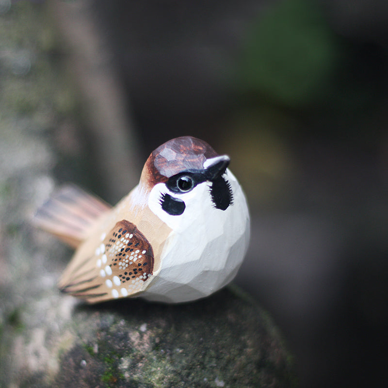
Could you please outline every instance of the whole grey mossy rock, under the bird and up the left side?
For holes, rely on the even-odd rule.
[[[58,166],[83,163],[75,103],[45,6],[0,12],[0,387],[295,386],[274,324],[234,287],[184,305],[57,291],[70,251],[29,220]]]

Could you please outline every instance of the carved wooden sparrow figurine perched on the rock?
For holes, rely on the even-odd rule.
[[[228,164],[204,141],[178,137],[151,153],[139,184],[115,207],[75,186],[54,194],[34,223],[77,248],[60,290],[88,303],[133,296],[178,303],[225,286],[250,234]]]

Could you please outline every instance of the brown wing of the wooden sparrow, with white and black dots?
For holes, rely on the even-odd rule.
[[[61,291],[89,303],[122,298],[143,291],[153,274],[152,246],[131,222],[118,222],[96,246],[95,255],[72,264],[60,281]]]

